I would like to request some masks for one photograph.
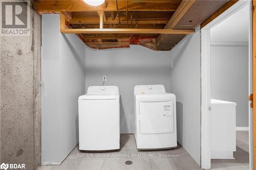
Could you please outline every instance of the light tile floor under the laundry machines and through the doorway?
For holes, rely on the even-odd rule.
[[[249,169],[248,134],[237,132],[236,159],[212,160],[212,169]],[[246,139],[247,138],[247,139]],[[159,151],[137,151],[134,135],[121,135],[121,149],[116,152],[80,152],[78,145],[60,165],[41,166],[38,170],[196,170],[201,169],[193,158],[178,145],[176,149]],[[248,157],[248,160],[247,160]],[[131,165],[125,161],[131,160]]]

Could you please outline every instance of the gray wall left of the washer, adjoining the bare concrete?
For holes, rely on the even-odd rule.
[[[42,164],[59,164],[78,143],[78,96],[85,93],[84,43],[42,14]]]

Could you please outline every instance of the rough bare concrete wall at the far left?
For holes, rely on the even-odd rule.
[[[28,19],[30,35],[0,37],[0,162],[33,170],[41,164],[41,17],[30,10]]]

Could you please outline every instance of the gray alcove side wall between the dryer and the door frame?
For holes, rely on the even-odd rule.
[[[172,50],[170,59],[170,92],[177,100],[177,138],[183,148],[200,164],[200,31],[187,35]]]

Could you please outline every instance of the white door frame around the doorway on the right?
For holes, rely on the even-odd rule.
[[[210,110],[211,110],[211,91],[210,91],[210,29],[215,27],[220,22],[238,12],[240,9],[249,5],[251,7],[251,1],[240,0],[236,4],[232,5],[222,14],[217,16],[214,20],[209,22],[205,27],[201,29],[201,168],[209,169],[211,158],[210,158]],[[251,20],[251,16],[250,16]],[[251,37],[251,24],[249,28],[249,37]],[[251,39],[251,38],[250,38]],[[251,42],[249,39],[249,70],[251,69]],[[251,80],[251,71],[249,71],[249,80]],[[251,91],[251,81],[249,81],[249,92]],[[249,104],[248,104],[249,107]],[[251,109],[249,109],[249,115],[251,115]],[[251,117],[249,116],[249,127]],[[249,134],[251,128],[249,128]],[[250,138],[251,139],[251,138]],[[250,160],[252,145],[250,142]],[[252,158],[253,159],[253,158]],[[253,161],[250,161],[250,169],[253,167]]]

